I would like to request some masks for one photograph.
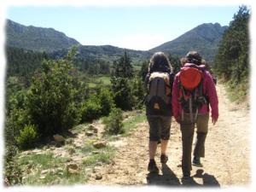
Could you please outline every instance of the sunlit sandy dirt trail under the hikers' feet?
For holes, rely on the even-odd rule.
[[[219,119],[209,124],[206,141],[206,158],[203,167],[193,166],[191,179],[182,179],[181,134],[172,120],[172,133],[166,166],[160,164],[160,148],[156,163],[159,175],[150,175],[148,166],[148,123],[137,125],[131,137],[118,141],[119,151],[113,163],[101,169],[102,179],[91,177],[89,183],[96,185],[161,185],[161,186],[248,186],[250,171],[250,121],[249,111],[227,99],[224,86],[218,84]],[[194,139],[195,142],[195,139]]]

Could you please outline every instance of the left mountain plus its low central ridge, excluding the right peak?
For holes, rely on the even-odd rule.
[[[67,49],[75,44],[79,45],[79,58],[96,60],[107,59],[113,61],[124,55],[126,51],[133,61],[148,59],[148,51],[123,49],[112,45],[81,45],[73,38],[68,38],[63,32],[55,31],[53,28],[36,26],[23,26],[12,20],[6,24],[6,45],[34,51],[51,52],[55,58],[67,55]]]

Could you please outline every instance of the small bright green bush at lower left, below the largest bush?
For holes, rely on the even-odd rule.
[[[32,148],[38,140],[38,130],[35,125],[26,125],[23,130],[20,130],[20,136],[16,141],[20,148]]]

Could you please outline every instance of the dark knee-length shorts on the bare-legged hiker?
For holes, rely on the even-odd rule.
[[[172,117],[148,115],[149,141],[168,140],[170,138]]]

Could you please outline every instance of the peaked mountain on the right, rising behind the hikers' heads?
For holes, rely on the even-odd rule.
[[[194,49],[207,61],[212,61],[218,50],[218,42],[227,27],[220,26],[218,23],[204,23],[172,41],[149,49],[149,51],[164,51],[172,55],[184,56],[189,50]]]

